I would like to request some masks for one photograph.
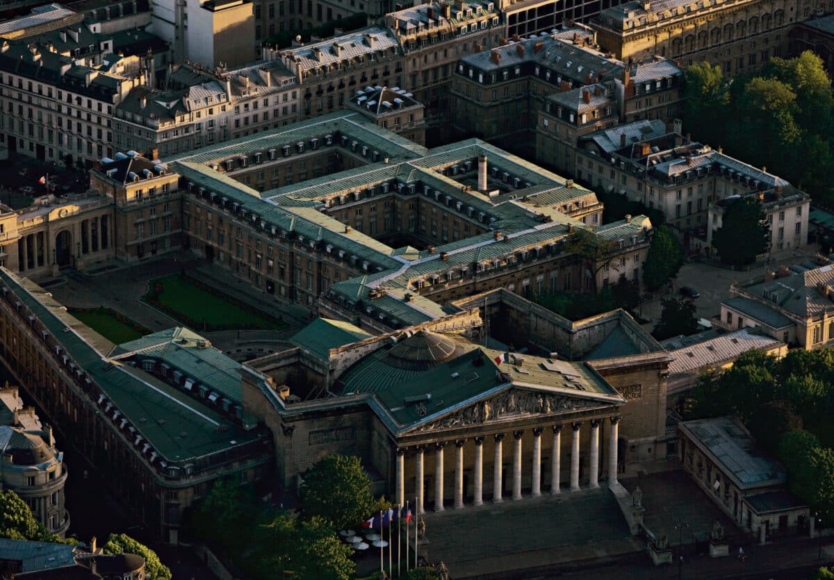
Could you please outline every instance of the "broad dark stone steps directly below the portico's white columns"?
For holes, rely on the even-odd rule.
[[[430,562],[445,562],[455,578],[500,574],[527,562],[540,567],[618,557],[645,546],[631,537],[607,486],[424,517],[420,553],[425,549]]]

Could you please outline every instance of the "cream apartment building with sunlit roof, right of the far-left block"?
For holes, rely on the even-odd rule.
[[[244,138],[299,118],[299,86],[281,62],[209,71],[178,65],[165,89],[136,87],[115,110],[115,145],[150,158]]]

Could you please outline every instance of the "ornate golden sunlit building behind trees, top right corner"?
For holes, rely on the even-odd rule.
[[[786,56],[790,29],[832,9],[811,0],[647,0],[606,8],[590,24],[617,58],[659,55],[685,67],[707,61],[731,77]]]

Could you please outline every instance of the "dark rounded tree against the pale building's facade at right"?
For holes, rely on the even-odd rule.
[[[731,201],[721,218],[721,228],[712,233],[712,245],[721,262],[743,266],[767,248],[767,225],[761,202],[755,196]]]

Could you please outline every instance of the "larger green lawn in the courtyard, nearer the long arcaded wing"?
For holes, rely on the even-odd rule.
[[[158,293],[158,304],[153,304],[150,295],[159,284],[162,291]],[[199,288],[188,279],[171,274],[157,278],[148,283],[150,291],[143,300],[161,307],[167,313],[188,324],[195,331],[224,330],[236,328],[281,329],[286,325],[249,312],[238,304],[230,302],[217,294]]]

